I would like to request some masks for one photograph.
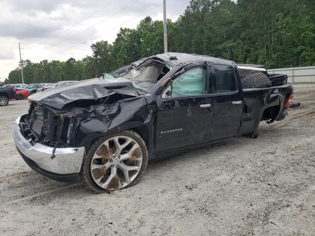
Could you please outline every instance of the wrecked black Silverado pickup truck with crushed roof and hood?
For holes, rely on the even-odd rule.
[[[293,87],[250,75],[241,80],[234,62],[206,56],[141,59],[104,78],[30,96],[29,112],[13,124],[15,144],[46,177],[81,178],[95,193],[126,188],[157,154],[256,138],[260,121],[284,119]],[[244,79],[256,88],[243,89]]]

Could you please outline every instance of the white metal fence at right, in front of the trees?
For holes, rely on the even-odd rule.
[[[288,83],[315,83],[315,66],[267,70],[268,74],[286,74]]]

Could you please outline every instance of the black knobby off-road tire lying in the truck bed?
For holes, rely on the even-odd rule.
[[[269,88],[271,81],[268,76],[261,72],[255,72],[241,78],[243,89]]]

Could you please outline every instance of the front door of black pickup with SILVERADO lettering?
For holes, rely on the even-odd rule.
[[[158,96],[161,100],[158,101],[156,151],[209,140],[214,103],[214,95],[209,93],[209,73],[210,67],[205,63],[187,66],[183,73],[172,78],[165,90],[171,91],[168,98]]]

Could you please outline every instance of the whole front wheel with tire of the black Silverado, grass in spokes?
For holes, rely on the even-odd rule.
[[[81,178],[94,193],[135,185],[148,165],[148,150],[134,131],[122,131],[96,140],[83,160]]]

